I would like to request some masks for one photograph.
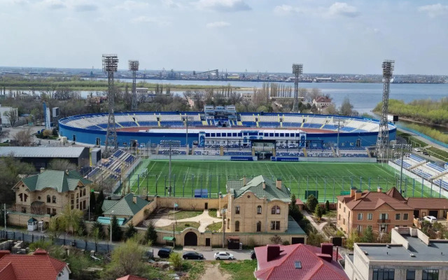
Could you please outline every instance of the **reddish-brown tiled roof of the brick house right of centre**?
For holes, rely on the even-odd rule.
[[[396,193],[393,190],[389,190],[388,193],[365,191],[358,200],[355,200],[355,197],[350,195],[340,195],[337,197],[337,200],[344,202],[349,209],[355,210],[374,210],[384,204],[395,210],[413,210],[412,207],[405,203],[405,199],[399,200],[395,198],[398,195],[400,195],[400,192]],[[400,197],[402,196],[400,195]]]

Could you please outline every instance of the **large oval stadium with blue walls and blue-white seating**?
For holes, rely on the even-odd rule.
[[[120,147],[151,144],[164,150],[169,140],[176,142],[176,153],[182,155],[253,155],[272,160],[369,157],[366,148],[376,144],[379,130],[379,121],[369,118],[237,113],[235,106],[205,106],[203,112],[115,113],[115,120]],[[78,144],[104,146],[107,123],[107,113],[62,118],[59,134]],[[394,140],[396,127],[392,123],[388,127]]]

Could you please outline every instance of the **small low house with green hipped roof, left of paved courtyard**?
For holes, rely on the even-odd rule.
[[[102,209],[104,216],[116,216],[117,218],[125,218],[126,220],[137,214],[148,203],[147,200],[129,193],[121,200],[104,200]]]

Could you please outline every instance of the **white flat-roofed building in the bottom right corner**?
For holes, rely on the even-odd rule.
[[[394,228],[391,244],[362,244],[346,255],[351,280],[448,279],[448,240],[432,240],[416,228]]]

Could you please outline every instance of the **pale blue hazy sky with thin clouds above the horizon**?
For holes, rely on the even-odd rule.
[[[448,74],[448,1],[0,0],[0,65]]]

